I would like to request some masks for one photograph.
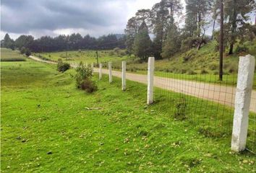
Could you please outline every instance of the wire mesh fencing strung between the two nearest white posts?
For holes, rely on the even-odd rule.
[[[160,111],[175,120],[189,120],[207,137],[231,142],[237,74],[173,74],[155,71],[154,97]],[[256,78],[256,76],[255,76]],[[254,80],[255,80],[254,78]],[[247,150],[256,153],[256,86],[253,86]],[[163,104],[162,104],[163,103]]]

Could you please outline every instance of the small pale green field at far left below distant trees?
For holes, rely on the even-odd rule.
[[[18,50],[1,48],[1,61],[25,61],[25,57]]]

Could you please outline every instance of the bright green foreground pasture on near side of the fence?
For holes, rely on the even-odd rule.
[[[26,61],[1,63],[1,73],[1,172],[255,172],[255,156],[174,121],[161,97],[145,107],[143,84],[121,92],[120,79],[103,76],[85,94],[73,70]]]

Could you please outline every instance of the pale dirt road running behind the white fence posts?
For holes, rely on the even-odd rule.
[[[41,61],[44,63],[55,63],[51,61],[44,61],[35,56],[30,56],[35,61]],[[71,64],[72,67],[76,67],[77,64]],[[98,72],[98,68],[94,68],[95,72]],[[102,70],[103,74],[108,74],[107,69]],[[112,71],[113,76],[121,78],[121,71]],[[147,76],[143,74],[126,74],[127,79],[131,81],[137,81],[142,84],[147,84]],[[185,81],[179,79],[170,79],[163,77],[154,77],[154,86],[171,90],[173,92],[181,92],[202,99],[208,99],[214,102],[219,102],[223,105],[234,106],[234,99],[236,88],[232,86],[221,86],[218,84],[208,84],[198,81]],[[252,112],[256,112],[256,91],[252,90],[252,99],[249,109]]]

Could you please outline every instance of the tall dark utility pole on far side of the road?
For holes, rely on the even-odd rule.
[[[220,3],[220,9],[221,9],[221,33],[220,33],[220,40],[219,40],[219,53],[220,53],[220,66],[219,66],[219,80],[222,81],[223,78],[223,20],[224,20],[224,14],[223,14],[223,0],[221,0]]]

